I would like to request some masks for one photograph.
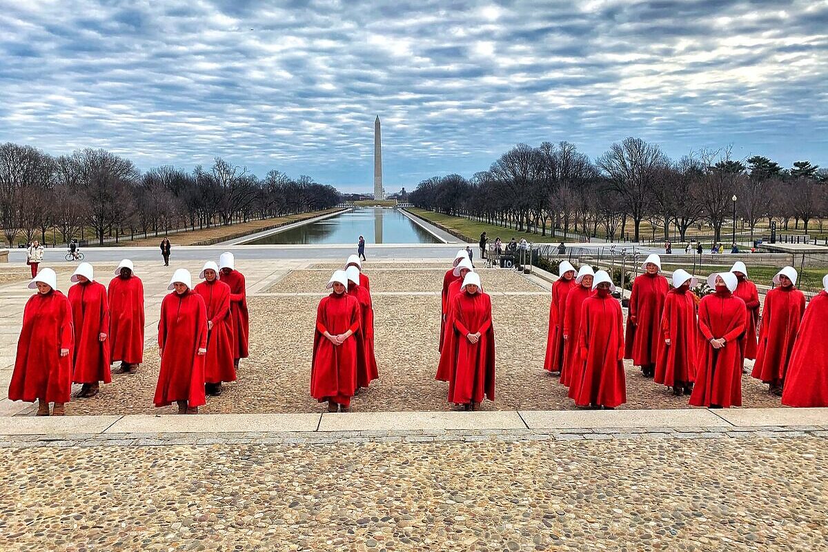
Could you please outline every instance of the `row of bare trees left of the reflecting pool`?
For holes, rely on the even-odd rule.
[[[108,237],[209,228],[252,218],[329,209],[340,195],[309,176],[271,170],[263,179],[220,157],[192,172],[161,166],[141,172],[105,150],[50,156],[12,142],[0,144],[0,227],[5,241],[30,242],[55,228],[65,240],[89,228]]]

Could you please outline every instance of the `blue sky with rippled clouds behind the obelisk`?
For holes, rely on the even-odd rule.
[[[517,142],[828,166],[828,2],[0,0],[0,142],[388,190]]]

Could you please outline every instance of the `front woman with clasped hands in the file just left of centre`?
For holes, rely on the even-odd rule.
[[[348,412],[357,384],[358,343],[361,314],[359,300],[348,295],[348,276],[335,271],[328,282],[330,295],[316,309],[313,358],[310,361],[310,396],[328,401],[329,412]]]

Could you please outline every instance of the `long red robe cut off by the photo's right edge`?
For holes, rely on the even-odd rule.
[[[828,406],[828,293],[811,299],[787,364],[782,404]]]

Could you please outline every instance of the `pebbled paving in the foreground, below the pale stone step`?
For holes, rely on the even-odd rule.
[[[0,550],[825,550],[826,440],[0,449]]]

